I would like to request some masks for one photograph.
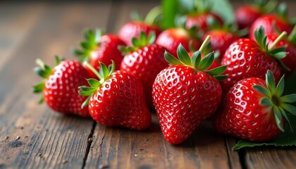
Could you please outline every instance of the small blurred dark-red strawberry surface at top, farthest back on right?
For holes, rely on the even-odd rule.
[[[250,27],[261,15],[260,8],[252,5],[241,6],[235,10],[235,20],[239,29]]]

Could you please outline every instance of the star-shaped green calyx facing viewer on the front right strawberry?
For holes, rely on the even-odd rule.
[[[264,94],[264,97],[260,99],[259,104],[271,108],[274,113],[276,125],[281,131],[284,131],[282,119],[285,118],[290,125],[288,113],[296,115],[296,107],[291,105],[291,103],[296,102],[296,94],[282,96],[284,86],[284,76],[280,78],[280,81],[276,85],[273,74],[270,70],[266,73],[266,87],[261,85],[253,86],[253,89],[257,90],[257,92]]]

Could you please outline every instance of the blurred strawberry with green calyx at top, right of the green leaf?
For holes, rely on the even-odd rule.
[[[187,29],[197,27],[197,30],[208,30],[209,24],[207,20],[209,18],[213,18],[219,25],[223,25],[222,18],[211,11],[211,4],[209,4],[208,1],[199,2],[202,2],[202,4],[197,4],[197,1],[195,9],[190,11],[186,16],[185,27],[187,27]]]

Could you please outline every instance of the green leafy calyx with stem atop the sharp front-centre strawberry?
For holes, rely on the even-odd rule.
[[[206,44],[209,42],[209,39],[209,36],[206,37],[199,51],[195,51],[191,58],[182,46],[182,44],[179,44],[177,49],[178,58],[175,58],[166,51],[164,53],[166,61],[168,61],[170,65],[185,65],[190,68],[194,68],[196,71],[208,73],[209,75],[216,77],[217,80],[224,80],[227,77],[227,75],[221,75],[221,73],[223,73],[226,70],[226,65],[221,65],[218,68],[206,70],[214,62],[214,52],[211,52],[204,56],[204,58],[202,58],[202,51]]]

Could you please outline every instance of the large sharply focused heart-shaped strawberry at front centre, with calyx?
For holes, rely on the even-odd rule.
[[[202,59],[200,51],[196,51],[190,58],[180,44],[177,54],[178,59],[165,53],[171,65],[157,75],[152,87],[161,131],[171,144],[184,142],[200,123],[216,111],[222,93],[216,78],[225,77],[219,74],[226,69],[223,65],[206,70],[214,61],[214,53]]]

